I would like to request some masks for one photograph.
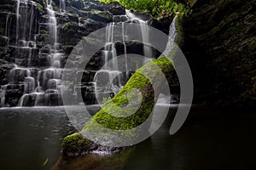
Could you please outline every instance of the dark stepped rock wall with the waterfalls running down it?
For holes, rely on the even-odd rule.
[[[0,3],[1,20],[1,106],[54,106],[62,105],[61,89],[72,95],[78,90],[84,94],[84,103],[96,104],[95,90],[102,97],[113,96],[124,86],[132,72],[101,70],[102,65],[119,54],[147,54],[148,61],[157,58],[154,49],[139,42],[113,42],[113,28],[122,22],[136,22],[142,25],[162,26],[157,20],[144,17],[139,20],[132,14],[126,14],[119,3],[100,3],[90,0],[10,0]],[[148,21],[146,21],[148,20]],[[107,26],[108,43],[86,66],[82,82],[72,87],[63,87],[61,77],[66,62],[79,64],[76,59],[67,60],[73,47],[83,38],[99,28]],[[163,27],[163,26],[162,26]],[[144,42],[147,31],[142,30]],[[125,55],[126,56],[126,55]],[[125,59],[127,60],[127,59]],[[145,61],[143,64],[145,64]],[[117,66],[116,63],[113,65]],[[118,76],[119,75],[119,76]],[[114,84],[113,77],[119,77]],[[98,80],[108,77],[102,87]],[[70,105],[77,105],[75,101]]]

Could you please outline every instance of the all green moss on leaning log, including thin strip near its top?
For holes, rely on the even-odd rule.
[[[183,20],[183,17],[181,16],[178,16],[178,20],[176,20],[176,27],[177,27],[176,43],[180,46],[183,45],[182,20]],[[176,51],[176,49],[173,49],[173,50]],[[175,53],[172,53],[172,54],[175,55]],[[151,92],[152,87],[150,86],[150,83],[152,81],[148,80],[148,78],[146,77],[143,77],[142,73],[148,75],[148,77],[153,77],[154,82],[157,82],[158,84],[157,91],[159,91],[157,92],[157,94],[160,94],[162,90],[161,88],[166,87],[163,83],[161,83],[159,79],[159,70],[157,68],[160,68],[160,71],[164,73],[164,75],[166,76],[166,80],[170,85],[172,83],[172,76],[174,73],[173,62],[170,56],[167,56],[167,57],[163,56],[159,59],[155,59],[149,62],[147,65],[143,65],[143,67],[138,69],[137,72],[125,84],[124,88],[122,88],[119,91],[119,93],[116,94],[113,99],[111,99],[113,102],[111,104],[108,104],[107,102],[107,104],[103,106],[102,110],[98,111],[96,115],[93,116],[93,118],[84,125],[84,128],[82,129],[81,133],[83,133],[83,131],[86,131],[86,130],[90,132],[90,129],[92,129],[95,132],[96,123],[101,124],[103,127],[107,127],[109,129],[114,129],[114,130],[127,130],[133,127],[137,127],[138,125],[143,123],[148,118],[148,116],[150,116],[152,113],[154,99],[151,99],[152,95],[150,94],[154,94],[154,92]],[[141,89],[142,90],[141,92],[143,93],[144,103],[142,103],[142,107],[137,111],[137,113],[134,114],[133,116],[127,116],[125,118],[122,118],[122,117],[116,118],[108,115],[108,109],[110,109],[111,111],[114,110],[112,109],[112,108],[115,108],[113,107],[113,105],[120,107],[122,105],[125,105],[127,101],[130,100],[129,96],[125,96],[124,94],[131,91],[131,89]],[[154,96],[154,98],[155,97],[157,96]],[[120,114],[123,114],[123,113],[120,113]],[[62,150],[64,155],[67,155],[67,154],[81,155],[85,151],[90,152],[90,150],[95,149],[94,146],[97,144],[95,144],[94,142],[91,142],[89,139],[84,139],[84,136],[81,133],[74,133],[72,135],[67,136],[63,140]],[[102,130],[99,130],[99,133],[104,134]],[[134,135],[136,136],[137,134],[134,133]]]

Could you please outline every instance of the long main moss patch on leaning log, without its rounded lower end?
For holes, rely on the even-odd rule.
[[[154,89],[151,84],[152,80],[149,80],[148,77],[154,77],[154,82],[161,83],[160,80],[157,80],[158,74],[160,74],[159,68],[162,72],[169,74],[172,71],[172,62],[166,57],[155,59],[137,70],[113,99],[107,99],[104,102],[102,110],[97,112],[92,118],[93,121],[87,123],[83,129],[94,128],[94,123],[97,122],[109,129],[126,130],[145,122],[154,108]],[[137,91],[143,95],[142,105],[135,114],[131,115],[134,105],[125,109],[124,107],[130,102],[139,102]],[[109,112],[119,114],[121,117],[112,116],[108,114]]]

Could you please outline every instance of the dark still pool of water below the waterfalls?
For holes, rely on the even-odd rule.
[[[91,106],[91,114],[98,109]],[[64,159],[61,140],[75,129],[62,107],[0,109],[1,169],[255,169],[255,111],[195,107],[170,135],[174,112],[128,150]]]

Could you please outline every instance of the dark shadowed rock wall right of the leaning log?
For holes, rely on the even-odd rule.
[[[195,99],[253,105],[256,2],[198,0],[184,22],[184,54],[195,79]],[[255,85],[254,85],[255,86]]]

